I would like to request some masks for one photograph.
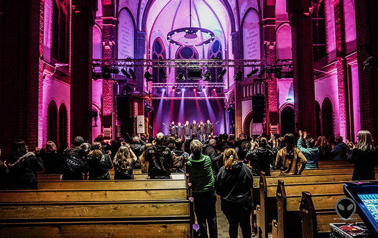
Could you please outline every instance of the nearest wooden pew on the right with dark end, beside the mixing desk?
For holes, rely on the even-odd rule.
[[[302,192],[299,213],[302,219],[302,237],[303,238],[320,238],[329,237],[329,224],[343,222],[338,220],[339,217],[335,208],[320,208],[314,205],[315,197],[307,191]],[[336,221],[336,222],[335,222]],[[350,222],[361,222],[361,218],[355,213]]]

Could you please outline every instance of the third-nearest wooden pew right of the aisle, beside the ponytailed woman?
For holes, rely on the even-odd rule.
[[[378,174],[375,174],[378,178]],[[330,175],[297,175],[297,176],[278,176],[278,177],[265,177],[265,173],[261,172],[260,176],[260,205],[256,205],[256,220],[257,220],[257,232],[258,235],[262,237],[267,237],[268,234],[268,222],[272,219],[277,219],[277,207],[269,206],[271,204],[277,203],[276,192],[278,180],[282,179],[286,184],[286,193],[292,194],[288,189],[295,187],[298,184],[306,184],[308,189],[303,189],[301,191],[306,191],[312,189],[313,186],[321,185],[320,183],[325,182],[335,182],[337,181],[350,181],[352,179],[352,174],[330,174]],[[287,186],[291,185],[290,188]],[[318,188],[324,193],[334,193],[332,187],[329,188]],[[326,189],[329,189],[327,191]],[[255,202],[254,202],[255,203]],[[259,236],[260,237],[260,236]]]

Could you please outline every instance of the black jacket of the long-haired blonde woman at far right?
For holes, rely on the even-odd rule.
[[[352,181],[375,180],[374,166],[378,165],[376,151],[348,150],[348,162],[354,164]]]

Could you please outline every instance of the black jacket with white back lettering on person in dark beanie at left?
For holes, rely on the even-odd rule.
[[[88,165],[79,147],[71,147],[67,152],[63,169],[63,180],[83,180],[83,174],[88,173]]]

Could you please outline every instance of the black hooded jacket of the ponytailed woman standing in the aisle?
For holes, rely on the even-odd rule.
[[[246,164],[236,162],[229,170],[226,170],[224,166],[220,168],[215,180],[215,189],[221,196],[222,211],[227,208],[232,209],[233,206],[229,206],[230,204],[237,204],[237,207],[242,210],[250,211],[252,209],[252,185],[252,173]],[[224,206],[225,203],[228,206]]]

